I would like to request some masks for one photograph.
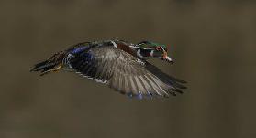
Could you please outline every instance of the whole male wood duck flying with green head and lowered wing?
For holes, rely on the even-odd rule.
[[[58,70],[77,72],[83,77],[105,83],[129,97],[169,97],[183,93],[182,83],[156,68],[147,58],[160,58],[173,63],[165,45],[123,40],[83,42],[73,45],[35,65],[31,71],[45,75]]]

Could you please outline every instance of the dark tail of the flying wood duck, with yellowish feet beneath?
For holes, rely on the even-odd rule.
[[[56,53],[47,60],[39,62],[38,64],[34,65],[34,68],[31,69],[30,72],[40,72],[40,76],[43,76],[51,72],[56,72],[62,68],[63,58],[65,58],[64,52]]]

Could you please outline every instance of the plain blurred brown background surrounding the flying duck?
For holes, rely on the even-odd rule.
[[[256,137],[253,0],[1,0],[1,138]],[[83,41],[168,45],[187,80],[170,99],[130,100],[107,86],[33,64]]]

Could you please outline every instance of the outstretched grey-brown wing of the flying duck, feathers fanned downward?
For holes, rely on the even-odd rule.
[[[184,88],[181,81],[113,46],[84,48],[72,54],[69,65],[83,76],[130,97],[168,97]]]

